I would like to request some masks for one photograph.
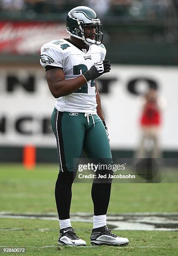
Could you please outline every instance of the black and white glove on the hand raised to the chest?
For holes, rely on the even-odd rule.
[[[108,72],[110,72],[110,60],[104,60],[91,66],[90,69],[83,74],[83,76],[88,82]]]

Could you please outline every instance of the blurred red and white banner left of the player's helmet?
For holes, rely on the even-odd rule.
[[[0,54],[38,54],[46,42],[66,36],[65,23],[0,21]]]

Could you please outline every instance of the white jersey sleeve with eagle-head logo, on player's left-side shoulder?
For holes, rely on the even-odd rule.
[[[53,66],[63,68],[64,64],[63,53],[50,45],[44,45],[41,47],[40,64],[42,67]]]

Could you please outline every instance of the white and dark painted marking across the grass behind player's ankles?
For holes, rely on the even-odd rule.
[[[56,213],[52,212],[45,214],[33,212],[0,212],[0,218],[58,221],[58,216]],[[73,222],[93,223],[93,215],[88,212],[77,212],[75,214],[71,214],[71,220]],[[120,213],[118,215],[108,214],[107,224],[113,230],[178,231],[178,212],[129,212]],[[45,229],[39,231],[45,231]]]

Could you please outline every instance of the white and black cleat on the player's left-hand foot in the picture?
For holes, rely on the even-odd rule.
[[[58,244],[68,246],[86,246],[86,242],[76,235],[72,227],[60,229]]]

